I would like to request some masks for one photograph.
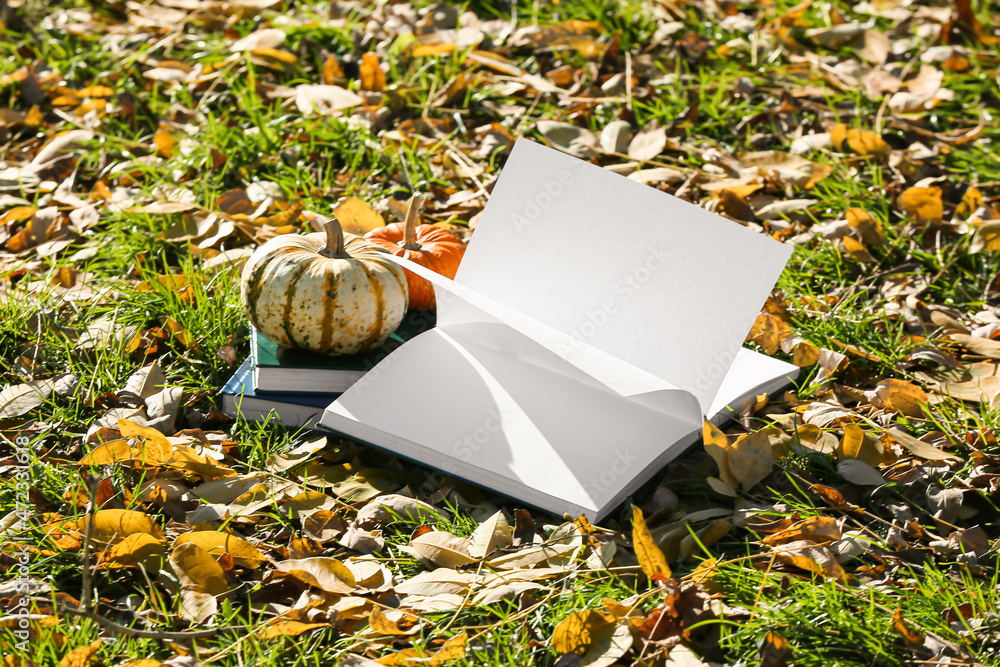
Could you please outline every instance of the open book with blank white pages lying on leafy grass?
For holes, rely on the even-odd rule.
[[[515,145],[437,326],[319,426],[558,515],[601,520],[797,369],[742,348],[791,249],[636,181]],[[727,406],[729,406],[727,408]]]

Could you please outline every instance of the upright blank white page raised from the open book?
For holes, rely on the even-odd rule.
[[[521,139],[455,280],[690,391],[706,413],[790,254],[738,223]],[[465,319],[462,308],[439,304],[439,325]]]

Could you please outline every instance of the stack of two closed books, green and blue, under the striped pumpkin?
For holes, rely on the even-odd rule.
[[[250,356],[222,388],[222,411],[248,421],[310,428],[330,403],[390,352],[433,326],[433,310],[412,310],[377,348],[331,357],[280,347],[251,325]]]

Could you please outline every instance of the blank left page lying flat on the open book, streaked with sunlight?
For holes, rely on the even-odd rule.
[[[470,331],[490,330],[510,331]],[[472,482],[526,501],[535,490],[562,501],[550,511],[592,516],[698,426],[442,328],[386,357],[322,421],[364,438],[351,422],[394,436],[369,440],[427,465],[456,471],[461,462]]]

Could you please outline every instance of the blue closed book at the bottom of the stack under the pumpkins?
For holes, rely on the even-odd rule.
[[[255,391],[253,362],[247,359],[222,387],[222,411],[233,418],[248,421],[277,419],[286,428],[311,428],[323,416],[323,410],[340,394]]]

